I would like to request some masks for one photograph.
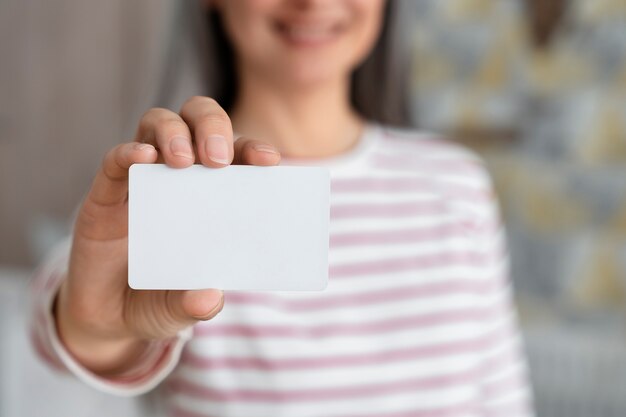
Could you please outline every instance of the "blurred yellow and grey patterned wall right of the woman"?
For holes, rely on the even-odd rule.
[[[541,43],[530,3],[418,2],[415,116],[492,172],[538,414],[622,416],[626,2],[562,2]]]

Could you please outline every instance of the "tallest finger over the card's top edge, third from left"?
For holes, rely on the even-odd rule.
[[[198,158],[203,165],[223,167],[233,160],[233,127],[230,118],[215,100],[192,97],[180,115],[193,134]]]

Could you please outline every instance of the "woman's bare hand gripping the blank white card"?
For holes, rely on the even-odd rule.
[[[68,274],[55,304],[59,336],[93,372],[122,372],[154,339],[173,337],[223,305],[220,290],[136,291],[127,284],[128,169],[164,162],[219,168],[231,163],[277,165],[271,145],[241,138],[233,144],[226,112],[208,97],[192,97],[179,114],[151,109],[134,142],[104,158],[78,214]]]

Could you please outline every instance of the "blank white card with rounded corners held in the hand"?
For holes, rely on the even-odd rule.
[[[134,289],[322,290],[329,194],[325,168],[135,164],[128,283]]]

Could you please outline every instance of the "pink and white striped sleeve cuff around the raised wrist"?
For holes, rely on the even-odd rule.
[[[59,243],[37,269],[31,284],[31,341],[38,356],[52,368],[69,372],[102,392],[135,396],[155,388],[176,367],[192,330],[151,342],[136,364],[123,374],[102,377],[82,366],[59,339],[53,315],[54,300],[67,272],[71,239]]]

